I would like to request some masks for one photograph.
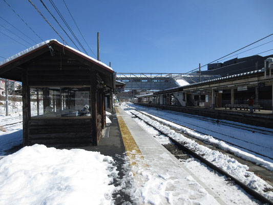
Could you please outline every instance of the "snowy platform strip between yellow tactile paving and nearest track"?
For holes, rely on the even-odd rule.
[[[117,110],[117,116],[123,118],[145,162],[141,162],[141,158],[131,162],[137,187],[135,197],[142,200],[140,203],[225,204],[125,111]]]

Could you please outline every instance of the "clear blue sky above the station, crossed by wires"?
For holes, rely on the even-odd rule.
[[[28,0],[6,1],[42,39],[54,38],[62,43]],[[95,58],[77,31],[62,0],[53,1],[89,55]],[[32,2],[65,38],[69,46],[75,48],[40,1]],[[49,0],[43,2],[69,32]],[[65,2],[95,54],[97,32],[100,33],[100,59],[108,65],[111,61],[111,66],[116,72],[183,73],[197,68],[199,63],[201,65],[209,63],[273,33],[271,0],[65,0]],[[35,42],[41,42],[3,0],[0,0],[0,16]],[[1,18],[0,25],[35,45]],[[1,26],[0,31],[30,47]],[[72,37],[71,34],[70,36]],[[8,58],[27,48],[2,33],[0,39],[2,57]],[[270,40],[273,40],[273,36],[249,48]],[[255,55],[269,49],[273,49],[273,42],[239,54],[238,57]],[[273,50],[261,55],[270,54],[273,54]],[[0,57],[1,60],[4,58]],[[206,70],[206,67],[202,70]]]

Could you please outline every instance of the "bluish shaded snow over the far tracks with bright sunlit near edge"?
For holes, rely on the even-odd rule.
[[[243,159],[257,163],[258,165],[261,165],[266,169],[273,171],[273,160],[271,159],[273,156],[272,140],[273,134],[261,134],[258,132],[251,132],[249,130],[242,130],[240,128],[218,125],[216,122],[207,122],[201,119],[197,119],[194,116],[191,117],[188,114],[187,115],[183,115],[182,113],[173,114],[159,109],[153,108],[147,109],[146,107],[137,105],[130,106],[132,107],[132,109],[137,108],[139,110],[144,111],[144,113],[148,115],[152,114],[157,121],[164,122],[167,125],[172,126],[178,130],[181,130],[190,136],[202,139],[203,141],[207,141],[210,144],[214,144],[223,150],[228,150]],[[171,121],[174,121],[177,124],[180,124],[181,126],[176,125]],[[216,119],[214,119],[214,121],[216,121]],[[221,121],[228,122],[227,120]],[[238,126],[243,125],[238,122],[233,122],[233,124],[236,124]],[[198,130],[200,132],[206,133],[206,135],[187,129],[183,127],[183,125]],[[253,126],[253,128],[257,127]],[[273,132],[273,129],[268,128],[260,129]],[[239,148],[237,146],[230,146],[229,144],[214,137],[228,141],[232,144],[236,144],[245,149]],[[263,154],[264,156],[257,153]]]

